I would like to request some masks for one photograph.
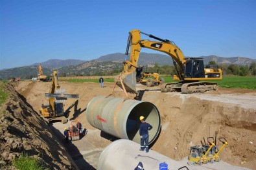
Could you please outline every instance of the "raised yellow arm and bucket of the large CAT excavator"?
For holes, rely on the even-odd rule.
[[[185,59],[180,48],[168,39],[161,39],[159,37],[152,36],[151,34],[145,35],[159,41],[143,40],[141,39],[141,34],[145,33],[141,32],[140,30],[132,30],[129,32],[125,54],[127,59],[130,48],[130,60],[125,59],[125,61],[123,62],[124,70],[121,73],[121,79],[124,82],[124,87],[126,88],[126,90],[128,90],[129,92],[136,92],[135,70],[139,61],[139,54],[141,52],[141,48],[150,48],[152,50],[157,50],[168,54],[173,59],[178,78],[180,78],[180,80],[183,80]],[[117,84],[119,85],[119,87],[122,88],[121,83],[118,82]]]

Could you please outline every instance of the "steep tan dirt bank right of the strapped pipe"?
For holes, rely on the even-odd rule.
[[[152,147],[155,151],[181,160],[188,156],[189,148],[207,142],[212,136],[226,138],[228,145],[220,158],[232,165],[255,168],[256,109],[245,109],[217,101],[194,97],[181,99],[180,94],[163,96],[153,92],[143,98],[157,105],[161,113],[161,134]],[[204,137],[204,138],[203,138]]]

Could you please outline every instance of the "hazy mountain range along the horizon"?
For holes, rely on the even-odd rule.
[[[127,57],[129,59],[130,56]],[[189,57],[187,57],[189,58]],[[215,61],[219,64],[235,64],[235,65],[250,65],[255,62],[256,59],[235,57],[224,58],[218,56],[200,56],[204,59],[205,65],[209,61]],[[41,62],[43,67],[43,74],[51,75],[52,70],[58,70],[60,76],[74,76],[83,75],[89,76],[99,72],[110,73],[115,71],[122,71],[122,61],[126,59],[125,54],[115,53],[101,56],[98,59],[91,61],[84,61],[79,59],[49,59],[48,61]],[[172,58],[164,54],[153,54],[141,52],[139,56],[138,65],[173,65]],[[38,63],[34,63],[25,67],[16,67],[12,69],[0,70],[0,79],[9,80],[12,76],[19,78],[32,78],[38,74]]]

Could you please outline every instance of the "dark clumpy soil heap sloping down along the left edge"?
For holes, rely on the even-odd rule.
[[[13,169],[12,160],[23,153],[38,158],[49,169],[75,169],[64,147],[27,100],[11,83],[5,91],[10,96],[0,107],[0,169]]]

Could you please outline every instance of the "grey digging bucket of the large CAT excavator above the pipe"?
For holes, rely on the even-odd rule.
[[[132,72],[130,74],[124,74],[123,72],[115,77],[115,82],[117,81],[117,85],[121,87],[121,89],[125,89],[126,92],[136,93],[136,72]]]

